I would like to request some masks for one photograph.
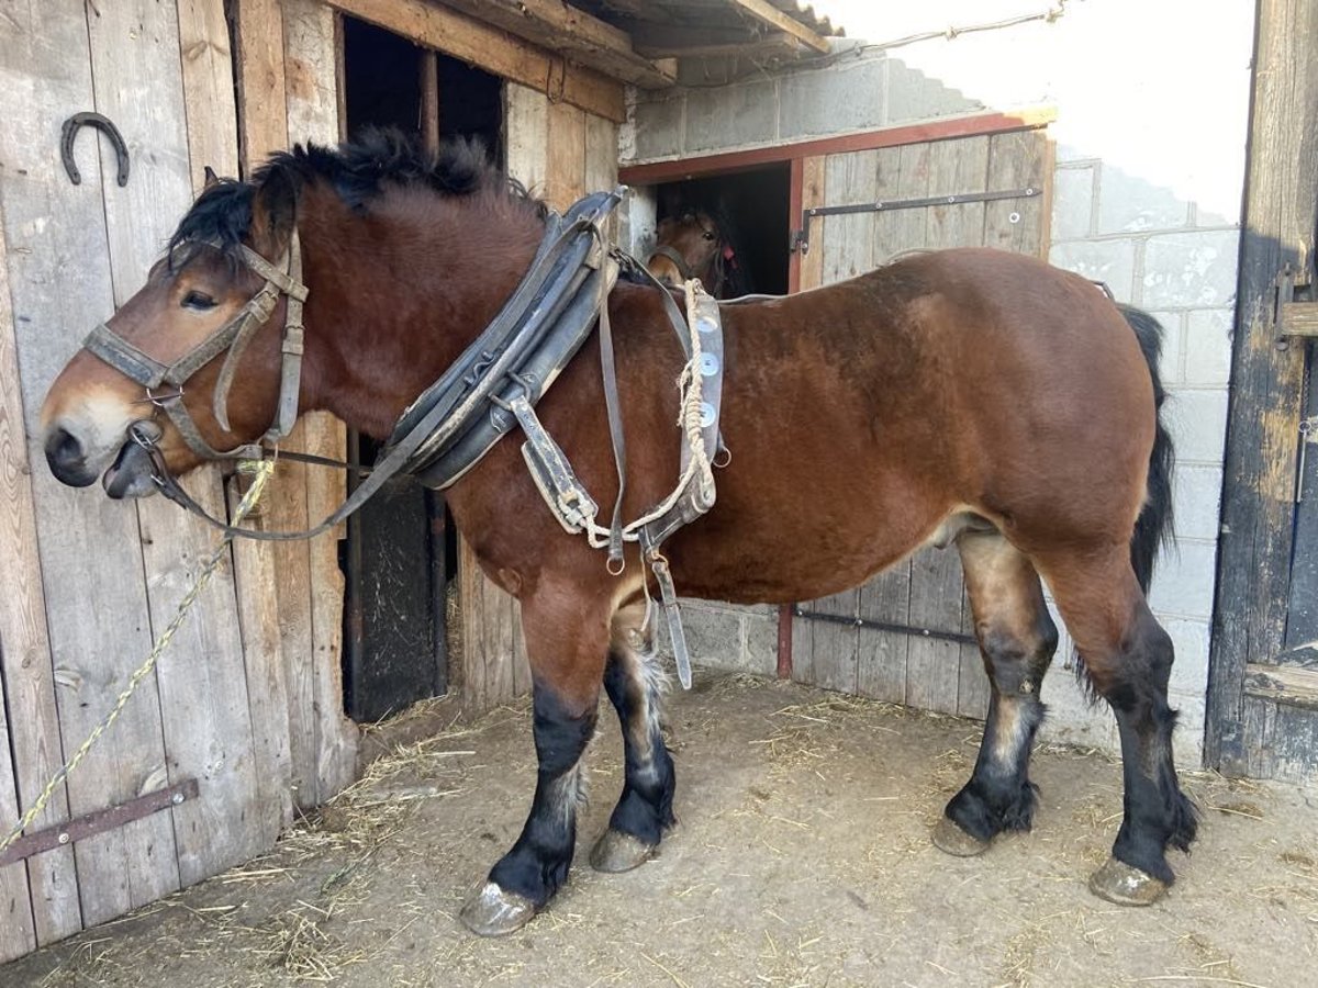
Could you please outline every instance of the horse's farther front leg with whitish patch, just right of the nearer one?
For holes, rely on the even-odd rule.
[[[597,871],[630,871],[645,863],[673,823],[672,756],[659,726],[666,682],[643,622],[643,603],[621,609],[613,619],[604,686],[622,725],[626,776],[609,829],[590,851]]]

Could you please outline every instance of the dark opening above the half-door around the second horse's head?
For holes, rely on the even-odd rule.
[[[655,186],[659,219],[704,209],[733,245],[747,292],[787,294],[787,162]]]

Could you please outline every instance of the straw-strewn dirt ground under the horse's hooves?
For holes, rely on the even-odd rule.
[[[605,723],[608,721],[608,723]],[[8,967],[18,985],[1302,985],[1318,983],[1318,790],[1186,773],[1203,813],[1151,909],[1094,898],[1119,767],[1035,756],[1035,831],[978,859],[929,843],[978,726],[697,671],[670,703],[677,829],[629,875],[585,862],[621,786],[590,751],[573,876],[501,941],[464,897],[517,837],[526,709],[377,763],[269,856]]]

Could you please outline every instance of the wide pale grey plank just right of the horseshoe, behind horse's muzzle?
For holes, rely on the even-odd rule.
[[[192,198],[179,26],[173,4],[124,0],[90,17],[88,28],[96,108],[123,130],[134,162],[125,188],[115,184],[111,162],[101,166],[115,302],[123,304],[146,281]],[[185,483],[208,511],[223,511],[216,469]],[[204,522],[161,498],[144,501],[138,516],[154,636],[191,589],[214,539]],[[187,885],[265,850],[246,817],[256,801],[252,722],[228,568],[198,598],[156,682],[169,781],[200,781],[199,798],[171,811]]]

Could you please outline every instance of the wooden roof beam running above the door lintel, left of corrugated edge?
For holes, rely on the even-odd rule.
[[[443,0],[443,3],[525,41],[645,90],[662,90],[677,79],[675,62],[651,61],[638,55],[626,32],[563,0]]]

